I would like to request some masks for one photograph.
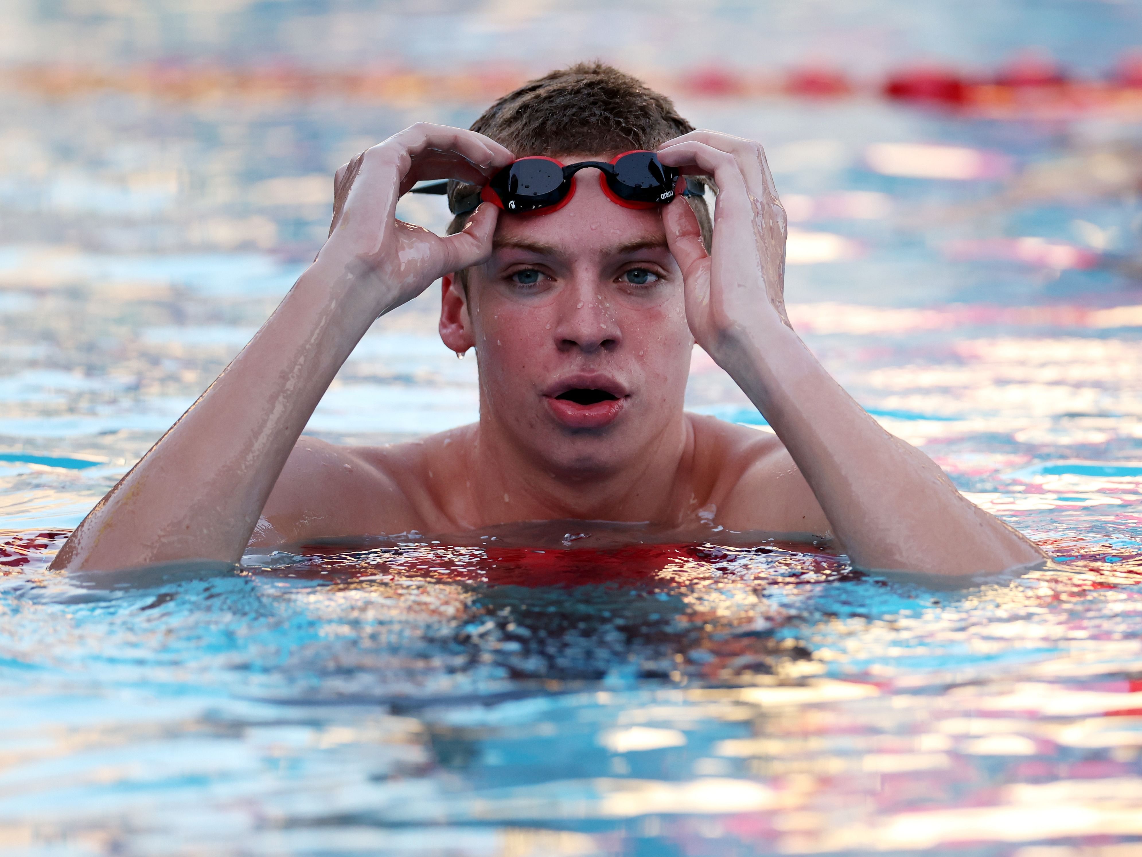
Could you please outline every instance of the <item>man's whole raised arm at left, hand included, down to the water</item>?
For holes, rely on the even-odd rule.
[[[236,561],[293,444],[381,314],[491,253],[496,213],[439,238],[395,219],[424,178],[484,183],[512,153],[472,131],[417,125],[338,170],[333,223],[270,320],[72,532],[53,568]]]

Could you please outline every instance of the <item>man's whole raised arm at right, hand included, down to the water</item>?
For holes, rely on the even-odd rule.
[[[690,329],[773,426],[853,564],[973,574],[1042,560],[927,456],[882,428],[794,333],[785,311],[786,216],[762,147],[692,131],[666,143],[659,158],[710,174],[718,186],[713,256],[685,202],[662,215]]]

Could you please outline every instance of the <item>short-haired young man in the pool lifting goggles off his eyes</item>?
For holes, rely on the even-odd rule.
[[[884,431],[793,330],[786,216],[761,145],[694,130],[603,65],[532,81],[472,128],[418,123],[338,171],[313,265],[55,568],[236,561],[248,545],[555,519],[695,539],[718,526],[817,534],[864,569],[995,572],[1043,559]],[[617,161],[632,151],[657,161]],[[529,155],[595,166],[570,176],[517,163]],[[711,241],[705,203],[673,193],[678,171],[718,189]],[[441,178],[457,179],[451,234],[395,218],[401,194]],[[369,326],[441,277],[441,338],[476,351],[480,422],[380,448],[299,441]],[[683,411],[695,342],[777,436]]]

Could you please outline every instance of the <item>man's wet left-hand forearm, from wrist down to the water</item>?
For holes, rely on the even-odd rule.
[[[236,561],[293,443],[377,315],[365,291],[344,266],[315,263],[53,566]]]

